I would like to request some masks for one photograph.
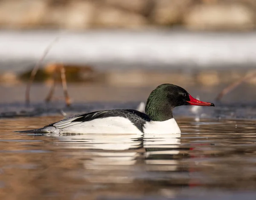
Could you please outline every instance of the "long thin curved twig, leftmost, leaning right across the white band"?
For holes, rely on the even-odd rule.
[[[29,102],[30,102],[30,98],[29,98],[29,92],[30,92],[30,87],[32,85],[32,82],[34,81],[35,79],[35,75],[36,73],[38,72],[38,69],[41,65],[41,62],[44,60],[44,58],[47,56],[47,54],[49,53],[49,50],[52,48],[52,46],[55,44],[55,42],[58,41],[58,37],[56,37],[48,46],[47,48],[44,50],[44,54],[42,55],[42,57],[40,58],[40,60],[36,63],[34,69],[32,70],[31,72],[31,75],[29,77],[29,82],[26,86],[26,93],[25,93],[25,101],[26,101],[26,104],[28,105]]]

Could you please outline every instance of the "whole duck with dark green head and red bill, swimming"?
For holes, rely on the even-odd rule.
[[[138,110],[101,110],[73,115],[45,127],[22,132],[80,133],[80,134],[179,134],[173,118],[177,106],[215,106],[193,98],[185,89],[173,84],[162,84],[148,96],[145,113]],[[21,132],[21,131],[20,131]]]

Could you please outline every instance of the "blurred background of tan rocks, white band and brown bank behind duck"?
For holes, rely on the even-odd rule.
[[[254,73],[255,13],[254,0],[0,0],[0,102],[25,100],[40,59],[35,102],[60,82],[59,65],[72,102],[145,101],[162,83],[215,99]],[[223,100],[250,101],[255,84]],[[53,96],[63,101],[61,84]]]

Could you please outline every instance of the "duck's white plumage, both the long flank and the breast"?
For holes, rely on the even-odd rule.
[[[58,121],[51,127],[43,128],[51,133],[98,133],[98,134],[139,134],[142,132],[124,117],[107,117],[93,119],[92,121],[76,121],[70,118]],[[174,118],[166,121],[147,121],[144,124],[145,134],[175,134],[180,133],[180,128]]]

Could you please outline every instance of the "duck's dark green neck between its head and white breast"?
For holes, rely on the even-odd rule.
[[[173,118],[172,107],[166,101],[154,101],[148,98],[145,113],[152,121],[166,121]]]

